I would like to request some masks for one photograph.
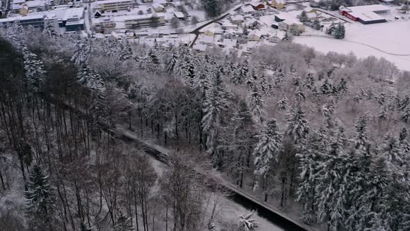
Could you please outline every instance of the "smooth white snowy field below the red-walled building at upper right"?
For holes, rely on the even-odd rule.
[[[410,70],[410,21],[370,25],[353,23],[345,26],[344,40],[302,35],[295,37],[295,42],[325,53],[336,51],[347,54],[353,51],[360,58],[384,57],[400,69]]]

